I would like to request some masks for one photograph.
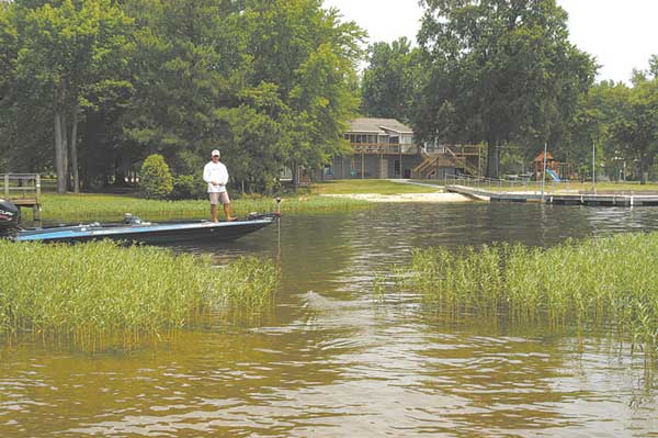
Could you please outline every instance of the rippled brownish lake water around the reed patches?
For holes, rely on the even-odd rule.
[[[658,437],[658,378],[605,333],[455,325],[372,291],[413,247],[657,228],[650,207],[382,205],[179,248],[276,259],[273,308],[132,352],[4,348],[0,437]]]

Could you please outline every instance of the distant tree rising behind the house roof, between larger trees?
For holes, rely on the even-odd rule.
[[[406,37],[368,47],[361,86],[363,114],[409,121],[416,52]]]

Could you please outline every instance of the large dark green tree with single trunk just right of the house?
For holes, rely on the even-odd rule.
[[[423,0],[421,139],[486,142],[498,176],[508,142],[556,142],[593,81],[555,0]]]

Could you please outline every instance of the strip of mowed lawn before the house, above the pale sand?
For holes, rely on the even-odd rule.
[[[311,194],[402,194],[402,193],[433,193],[440,188],[422,187],[395,182],[389,180],[336,180],[314,182],[310,186]]]

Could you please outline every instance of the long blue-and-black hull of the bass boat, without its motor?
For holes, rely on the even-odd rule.
[[[73,226],[24,229],[15,233],[18,242],[77,243],[91,240],[121,240],[140,244],[170,244],[184,242],[228,242],[257,232],[275,221],[274,216],[237,222],[179,222],[124,224],[83,224]]]

